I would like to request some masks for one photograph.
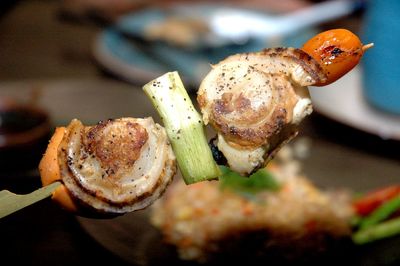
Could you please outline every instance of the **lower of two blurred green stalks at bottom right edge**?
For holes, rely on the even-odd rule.
[[[395,236],[399,233],[400,218],[395,218],[357,231],[353,234],[353,242],[361,245],[375,240]]]

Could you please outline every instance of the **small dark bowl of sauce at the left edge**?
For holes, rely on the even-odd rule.
[[[50,119],[44,110],[0,98],[0,173],[37,168],[50,132]]]

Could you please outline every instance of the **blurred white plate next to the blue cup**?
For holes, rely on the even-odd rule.
[[[310,88],[314,109],[331,119],[383,139],[400,140],[400,116],[368,104],[363,95],[361,75],[361,69],[356,68],[331,85]]]

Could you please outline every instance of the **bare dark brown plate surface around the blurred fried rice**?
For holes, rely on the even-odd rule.
[[[296,147],[298,143],[294,141],[293,144]],[[367,191],[395,183],[400,171],[397,163],[391,160],[379,159],[323,140],[314,140],[309,152],[309,157],[302,162],[304,172],[314,184],[323,189]],[[163,242],[160,232],[149,222],[148,211],[130,213],[113,220],[78,218],[78,221],[101,245],[135,265],[197,265],[180,260],[176,249]],[[329,249],[317,262],[327,265],[345,262],[351,262],[352,265],[396,265],[400,260],[396,243],[399,243],[398,238],[377,241],[363,247],[341,243],[344,245]],[[341,252],[345,252],[346,256],[331,256]],[[245,261],[250,265],[259,262],[254,257]]]

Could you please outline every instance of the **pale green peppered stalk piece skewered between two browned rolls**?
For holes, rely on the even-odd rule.
[[[221,174],[207,143],[204,123],[177,72],[143,86],[157,109],[186,184],[217,179]]]

